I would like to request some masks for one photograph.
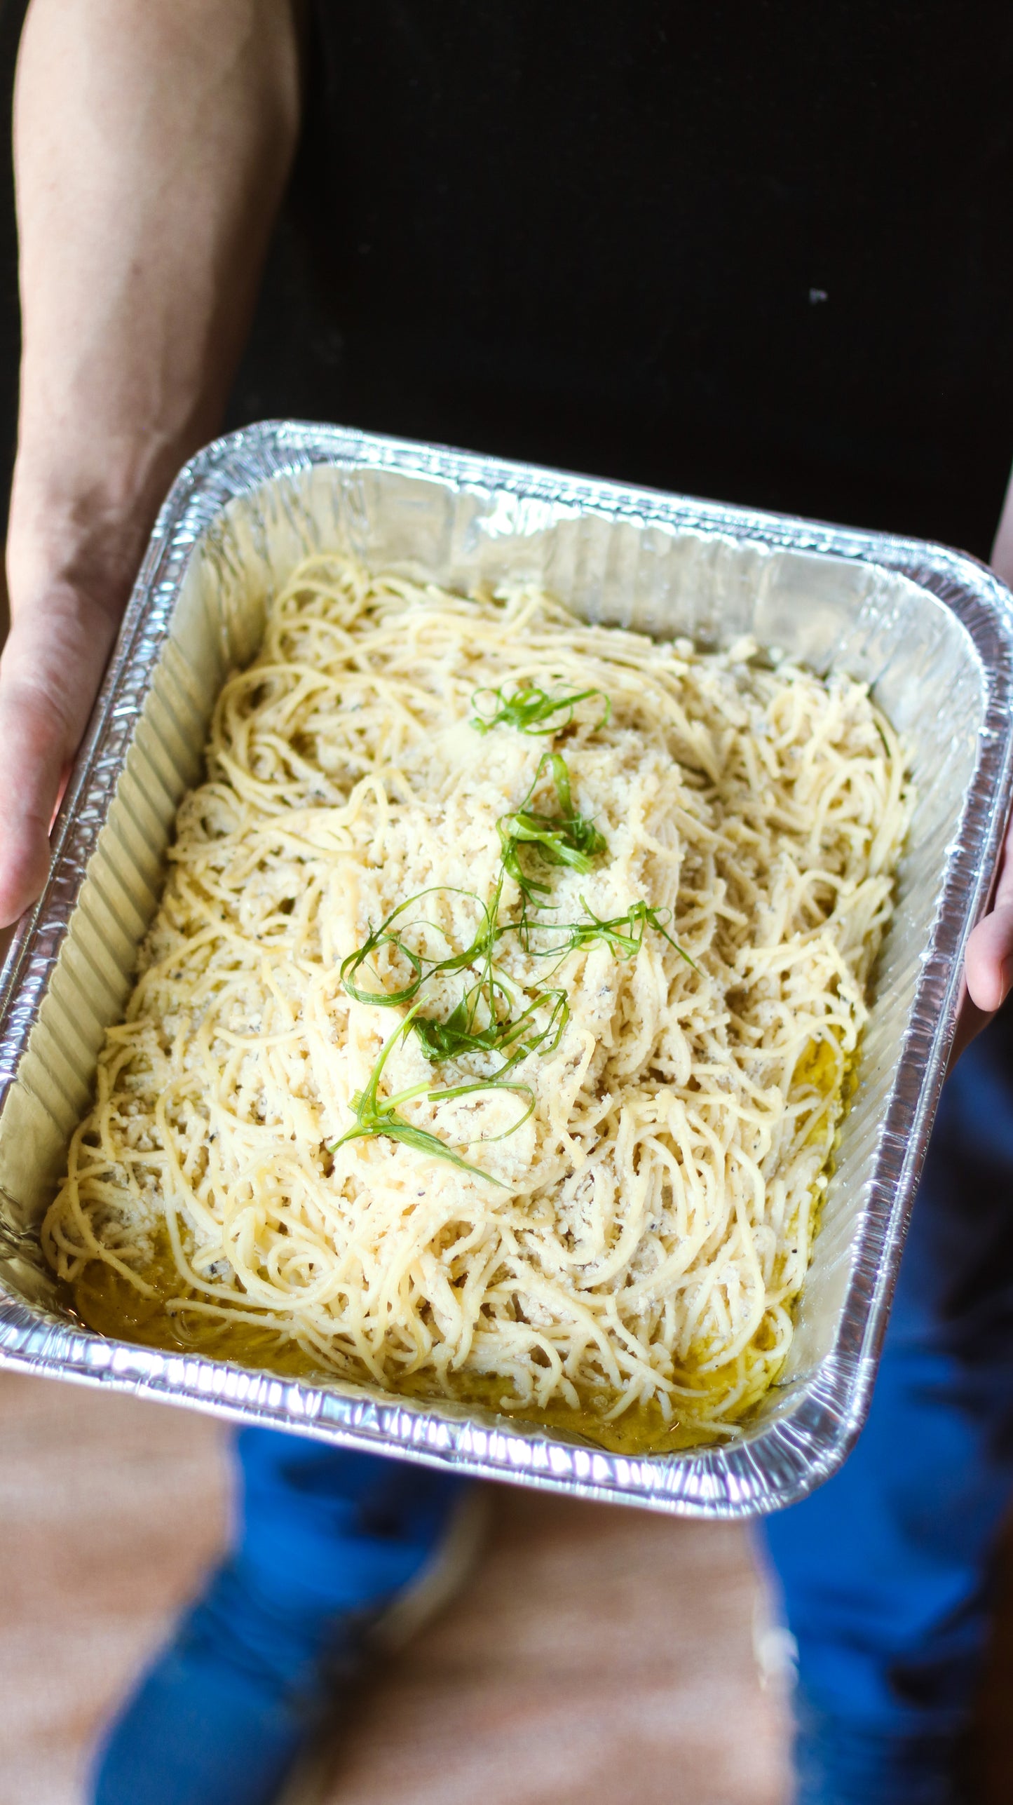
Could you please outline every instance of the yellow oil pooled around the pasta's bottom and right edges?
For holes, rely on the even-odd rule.
[[[856,1088],[854,1063],[852,1056],[845,1065],[841,1079],[840,1058],[834,1047],[827,1041],[811,1041],[795,1067],[791,1088],[796,1090],[796,1087],[805,1085],[820,1090],[827,1097],[838,1094],[843,1114],[843,1108],[847,1108],[847,1103]],[[816,1125],[814,1134],[820,1132],[823,1130]],[[831,1150],[825,1164],[827,1173],[832,1170],[834,1150]],[[135,1341],[143,1347],[161,1348],[172,1354],[197,1354],[206,1359],[235,1361],[242,1366],[276,1374],[283,1379],[309,1379],[316,1384],[329,1384],[334,1381],[334,1372],[330,1372],[318,1357],[309,1354],[280,1330],[262,1327],[253,1318],[249,1323],[240,1323],[235,1319],[218,1321],[217,1318],[186,1309],[172,1312],[166,1310],[166,1301],[170,1298],[181,1300],[188,1294],[170,1254],[168,1244],[163,1244],[157,1249],[155,1258],[143,1273],[143,1278],[153,1287],[153,1298],[144,1298],[126,1278],[116,1273],[114,1267],[101,1260],[92,1260],[72,1287],[72,1307],[88,1328],[116,1339]],[[195,1292],[193,1298],[197,1298]],[[374,1383],[368,1381],[365,1372],[361,1377],[367,1383]],[[692,1388],[693,1395],[706,1406],[708,1397],[726,1390],[730,1368],[717,1368],[706,1374],[686,1372],[681,1374],[679,1379],[683,1384]],[[695,1412],[690,1413],[686,1421],[681,1421],[677,1415],[677,1404],[674,1406],[674,1415],[668,1421],[661,1413],[659,1404],[650,1402],[646,1406],[634,1406],[623,1412],[623,1415],[616,1421],[607,1422],[603,1421],[601,1408],[594,1408],[590,1399],[578,1410],[563,1402],[549,1404],[544,1410],[531,1410],[524,1406],[511,1408],[509,1381],[498,1377],[497,1374],[469,1374],[457,1379],[451,1375],[450,1384],[450,1395],[455,1402],[491,1410],[500,1415],[504,1424],[556,1430],[563,1435],[576,1435],[583,1442],[590,1442],[592,1446],[603,1448],[610,1453],[623,1453],[630,1457],[675,1453],[684,1448],[724,1439],[720,1428],[708,1431],[708,1428],[701,1424]],[[397,1393],[417,1399],[419,1402],[441,1402],[446,1401],[448,1395],[444,1390],[435,1386],[428,1375],[408,1375],[397,1386]],[[755,1408],[755,1401],[749,1410],[751,1408]],[[746,1410],[746,1417],[749,1415],[749,1410]]]

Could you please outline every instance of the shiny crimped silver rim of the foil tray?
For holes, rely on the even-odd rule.
[[[986,682],[971,805],[964,810],[908,1018],[903,1063],[914,1094],[905,1097],[897,1121],[888,1121],[879,1161],[885,1170],[872,1186],[865,1231],[856,1245],[838,1343],[791,1413],[730,1442],[664,1457],[607,1453],[504,1419],[482,1426],[451,1408],[397,1397],[381,1402],[368,1393],[345,1395],[233,1363],[161,1354],[107,1339],[4,1292],[0,1366],[132,1392],[240,1422],[256,1421],[428,1466],[451,1464],[475,1476],[672,1514],[740,1518],[793,1504],[843,1462],[869,1408],[910,1202],[953,1036],[962,948],[988,901],[1013,794],[1013,597],[970,554],[899,534],[670,495],[343,426],[265,421],[213,440],[184,466],[159,511],[54,825],[47,886],[18,924],[7,951],[0,975],[0,1106],[83,881],[87,857],[79,856],[70,866],[67,843],[88,818],[94,845],[116,787],[119,758],[130,736],[130,722],[117,718],[116,708],[125,680],[135,675],[139,659],[153,664],[190,552],[215,514],[238,496],[274,478],[298,477],[314,464],[394,469],[459,487],[571,504],[574,513],[599,511],[612,520],[657,522],[683,532],[755,543],[764,551],[856,560],[928,588],[970,634]]]

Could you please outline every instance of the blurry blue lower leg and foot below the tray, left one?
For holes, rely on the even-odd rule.
[[[435,1556],[464,1480],[244,1430],[229,1558],[108,1727],[94,1805],[271,1805],[349,1709],[363,1632]]]

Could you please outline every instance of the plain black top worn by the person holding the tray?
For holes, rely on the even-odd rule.
[[[229,422],[296,413],[988,552],[1013,11],[316,0]]]

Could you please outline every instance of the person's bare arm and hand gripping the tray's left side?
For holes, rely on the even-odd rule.
[[[0,924],[43,884],[159,502],[218,426],[298,135],[296,27],[298,0],[29,7]]]

